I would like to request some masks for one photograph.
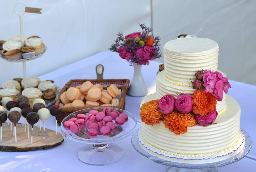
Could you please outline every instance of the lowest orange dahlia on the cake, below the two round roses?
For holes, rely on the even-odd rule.
[[[165,127],[176,135],[186,133],[187,127],[193,127],[196,123],[195,115],[191,113],[181,114],[178,111],[166,115],[165,119],[163,119]]]

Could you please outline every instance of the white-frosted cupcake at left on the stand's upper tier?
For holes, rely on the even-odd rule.
[[[18,41],[6,41],[3,44],[3,50],[1,53],[5,55],[6,59],[19,60],[22,59],[22,44]]]

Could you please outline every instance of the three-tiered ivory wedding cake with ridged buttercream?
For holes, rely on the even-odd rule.
[[[202,70],[217,71],[219,46],[211,39],[178,38],[167,42],[163,51],[165,70],[157,75],[156,93],[143,99],[141,106],[151,100],[161,99],[165,95],[172,95],[175,98],[181,93],[193,95],[196,90],[191,81],[197,79],[195,73]],[[226,78],[224,73],[218,72],[222,74],[219,75],[220,77]],[[218,90],[215,93],[218,97],[218,91],[223,92],[223,89],[216,87]],[[207,89],[210,90],[206,92],[212,93],[211,88]],[[175,108],[175,110],[177,109]],[[205,157],[226,152],[237,145],[241,138],[239,130],[241,109],[232,97],[223,93],[222,101],[217,101],[215,104],[215,111],[218,113],[216,113],[217,118],[214,123],[211,122],[212,124],[209,126],[195,124],[192,125],[193,127],[186,127],[186,133],[179,135],[166,127],[167,122],[163,122],[164,114],[158,122],[151,125],[142,120],[141,138],[154,149],[184,157]],[[191,116],[194,115],[192,112]],[[179,121],[177,122],[179,123]],[[174,123],[175,120],[170,125],[175,128],[177,125]],[[198,119],[195,123],[199,123]],[[182,125],[178,125],[178,127],[181,129]]]

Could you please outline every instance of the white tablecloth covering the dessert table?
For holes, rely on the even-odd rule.
[[[43,58],[43,57],[42,57]],[[71,57],[72,58],[72,57]],[[36,62],[36,60],[34,61]],[[59,87],[63,87],[70,79],[95,79],[95,66],[102,64],[105,67],[103,78],[121,79],[133,77],[133,67],[121,59],[117,53],[103,51],[89,58],[73,64],[61,67],[55,71],[40,76],[43,81],[51,79]],[[149,94],[155,92],[155,78],[158,70],[158,62],[150,62],[149,66],[143,66],[142,73],[149,89]],[[225,69],[220,69],[225,72]],[[255,100],[256,86],[230,81],[232,89],[229,95],[239,103],[242,109],[241,128],[250,135],[252,142],[256,142],[255,134]],[[139,106],[143,97],[126,96],[125,109],[139,118]],[[138,122],[139,128],[141,123]],[[46,128],[55,130],[54,117],[46,121]],[[58,132],[61,129],[58,126]],[[64,142],[52,149],[30,152],[0,152],[0,171],[165,171],[167,166],[159,165],[141,154],[131,145],[131,136],[115,142],[125,152],[124,157],[111,165],[90,166],[80,162],[77,158],[78,151],[84,146],[82,143],[73,142],[64,138]],[[246,158],[241,161],[218,167],[219,171],[253,171],[256,167],[256,149],[251,149]]]

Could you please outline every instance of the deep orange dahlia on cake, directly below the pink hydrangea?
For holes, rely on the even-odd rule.
[[[193,103],[194,114],[205,116],[208,113],[214,111],[216,108],[216,98],[211,93],[206,93],[203,90],[194,91],[191,95]]]

